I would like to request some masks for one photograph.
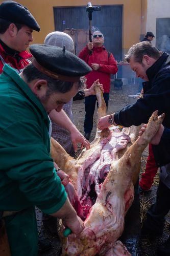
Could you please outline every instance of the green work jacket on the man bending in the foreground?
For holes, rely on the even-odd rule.
[[[0,210],[36,205],[53,214],[66,192],[50,157],[50,121],[43,105],[17,72],[0,76]]]

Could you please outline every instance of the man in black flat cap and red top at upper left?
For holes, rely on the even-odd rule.
[[[32,54],[26,50],[33,30],[40,27],[26,7],[13,1],[0,5],[0,73],[5,63],[20,73],[31,62]]]

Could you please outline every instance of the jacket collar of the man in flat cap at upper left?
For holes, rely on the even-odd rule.
[[[15,58],[17,55],[22,59],[29,59],[33,55],[27,51],[17,52],[10,47],[8,47],[1,39],[0,39],[0,53],[4,53],[5,55],[10,55]]]

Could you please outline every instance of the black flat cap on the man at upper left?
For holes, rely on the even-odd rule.
[[[14,1],[6,1],[0,5],[0,18],[12,23],[27,25],[33,30],[40,31],[40,26],[29,10]]]

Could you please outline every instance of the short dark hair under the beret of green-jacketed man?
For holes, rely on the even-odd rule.
[[[55,80],[50,76],[47,76],[37,70],[31,63],[22,71],[23,76],[26,79],[26,82],[31,82],[34,79],[44,79],[48,83],[47,95],[50,96],[54,92],[66,93],[71,90],[74,82],[65,82],[61,80]],[[80,83],[78,83],[78,89],[80,88]]]

